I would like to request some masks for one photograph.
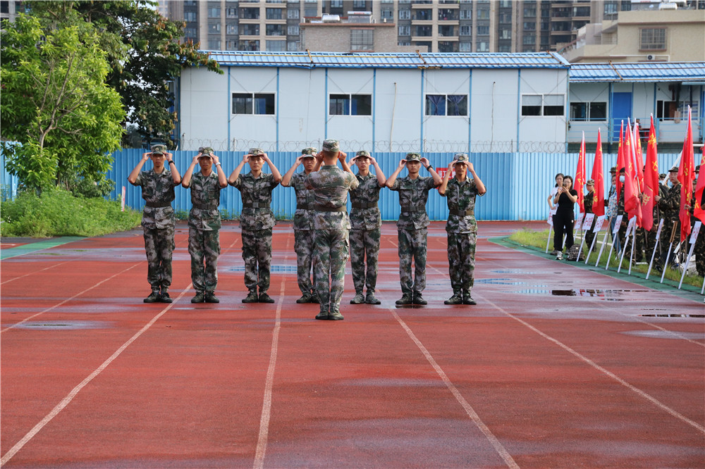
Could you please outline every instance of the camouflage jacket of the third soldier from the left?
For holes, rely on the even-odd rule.
[[[243,230],[267,230],[274,227],[274,213],[271,211],[271,191],[279,183],[271,174],[252,173],[238,176],[230,185],[240,190],[243,197],[243,211],[240,213],[240,227]]]

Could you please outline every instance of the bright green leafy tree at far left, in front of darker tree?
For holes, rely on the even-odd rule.
[[[6,165],[37,190],[102,184],[123,134],[125,111],[106,85],[110,67],[99,34],[75,11],[63,15],[44,25],[25,14],[2,22],[1,135],[20,142],[3,143]]]

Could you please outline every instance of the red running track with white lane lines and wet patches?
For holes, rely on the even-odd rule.
[[[142,303],[139,230],[8,258],[2,463],[705,467],[705,320],[648,316],[702,315],[703,304],[487,240],[520,226],[480,224],[478,305],[445,306],[434,223],[429,306],[394,308],[396,228],[385,224],[383,303],[350,305],[348,272],[337,322],[295,304],[286,223],[274,233],[276,304],[240,302],[236,225],[221,231],[217,305],[189,302],[184,225],[169,308]]]

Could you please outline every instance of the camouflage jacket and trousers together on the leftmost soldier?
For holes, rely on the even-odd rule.
[[[147,282],[152,292],[167,292],[171,286],[171,256],[174,244],[176,218],[171,202],[176,198],[174,186],[167,168],[160,173],[154,170],[141,171],[135,186],[142,186],[142,199],[147,205],[142,211],[142,229],[145,232],[147,252]]]

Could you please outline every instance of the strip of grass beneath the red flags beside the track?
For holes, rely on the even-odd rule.
[[[599,233],[599,237],[595,242],[595,247],[594,250],[590,254],[589,261],[587,262],[589,265],[595,265],[597,262],[597,256],[599,254],[600,250],[600,244],[599,242],[602,241],[602,238],[604,237],[604,232]],[[532,230],[527,230],[526,228],[513,232],[512,235],[509,237],[510,241],[515,242],[517,244],[520,244],[522,246],[528,247],[529,249],[536,249],[537,251],[541,251],[542,253],[546,251],[546,239],[548,239],[548,230],[543,230],[543,231],[532,231]],[[608,237],[609,239],[609,237]],[[582,237],[579,234],[575,235],[575,242],[577,244],[580,244],[582,241]],[[586,243],[587,244],[587,243]],[[551,244],[549,244],[548,249],[549,252],[551,251],[553,247],[553,238],[551,238]],[[602,256],[600,258],[600,263],[598,267],[604,268],[605,265],[607,265],[607,257],[608,257],[608,250],[609,250],[609,244],[605,246],[605,249],[603,250]],[[587,250],[590,248],[590,246],[583,246],[583,252],[584,254],[587,254]],[[565,258],[565,253],[563,254]],[[627,273],[629,271],[629,261],[627,259],[627,256],[629,253],[625,253],[625,259],[622,262],[622,270],[621,272]],[[651,260],[651,254],[649,254],[649,260]],[[584,261],[582,261],[584,262]],[[610,270],[617,270],[618,268],[618,263],[619,263],[619,258],[615,258],[615,252],[612,252],[612,256],[610,258]],[[639,264],[639,265],[632,265],[632,274],[634,273],[641,273],[643,277],[646,277],[646,271],[649,270],[649,265],[645,264]],[[661,278],[661,270],[654,270],[653,268],[651,269],[651,273],[649,274],[649,280],[652,279],[660,279]],[[671,268],[666,268],[666,275],[664,278],[671,280],[673,282],[680,282],[680,276],[682,273],[680,270],[673,270]],[[683,279],[683,284],[689,284],[693,285],[694,287],[700,288],[703,284],[703,277],[700,277],[699,275],[686,275],[685,278]]]

